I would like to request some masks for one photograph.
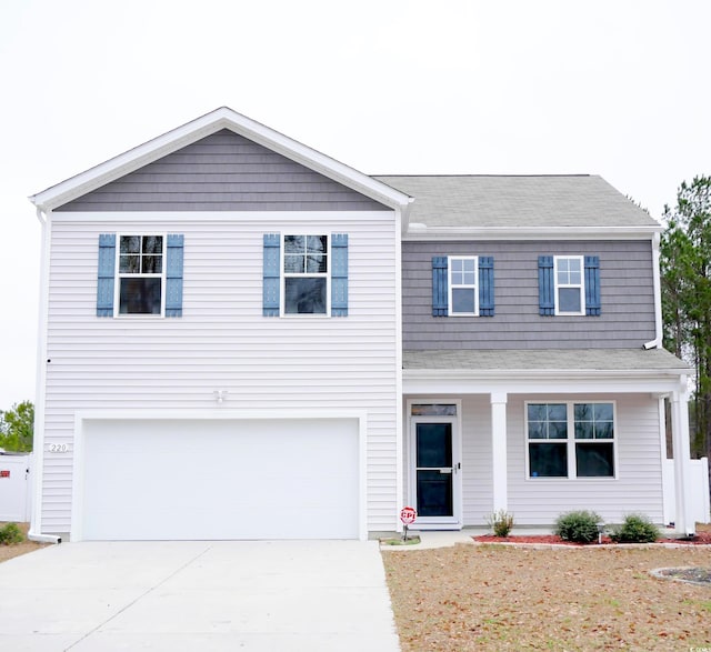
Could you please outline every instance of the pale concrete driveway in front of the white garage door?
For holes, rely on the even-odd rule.
[[[0,564],[0,650],[400,650],[378,544],[61,543]]]

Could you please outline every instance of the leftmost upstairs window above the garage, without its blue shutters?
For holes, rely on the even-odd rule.
[[[161,314],[163,237],[121,235],[119,314]]]

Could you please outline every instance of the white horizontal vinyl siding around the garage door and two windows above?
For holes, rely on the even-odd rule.
[[[78,410],[361,410],[367,413],[368,528],[397,515],[399,227],[387,211],[140,215],[142,232],[184,233],[180,320],[96,317],[99,233],[88,213],[50,215],[42,530],[69,532]],[[132,220],[137,220],[133,217]],[[153,221],[151,221],[153,220]],[[349,234],[348,320],[262,317],[266,232]],[[216,390],[227,391],[218,405]]]

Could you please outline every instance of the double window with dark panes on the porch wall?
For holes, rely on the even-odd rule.
[[[529,478],[613,478],[614,404],[528,403]]]

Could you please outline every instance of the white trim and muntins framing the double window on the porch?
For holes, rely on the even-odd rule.
[[[529,439],[529,405],[535,404],[540,405],[542,403],[558,403],[565,404],[565,414],[568,418],[568,438],[565,440],[533,440]],[[575,403],[588,403],[588,404],[600,404],[600,403],[612,403],[612,425],[614,429],[614,435],[612,439],[575,439]],[[531,478],[531,460],[529,454],[529,443],[537,443],[537,441],[545,442],[545,441],[557,441],[557,442],[565,442],[568,447],[568,475],[560,478],[550,478],[550,477],[541,477],[541,478]],[[618,404],[614,400],[588,400],[584,398],[575,399],[572,401],[561,401],[559,399],[537,399],[534,401],[524,401],[523,403],[523,442],[525,449],[525,480],[531,482],[561,482],[561,481],[573,481],[573,482],[612,482],[619,479],[619,462],[618,462],[618,449],[620,448],[620,433],[618,428]],[[600,443],[612,443],[612,463],[614,464],[614,473],[612,475],[578,475],[577,473],[577,464],[575,464],[575,442],[600,442]]]

